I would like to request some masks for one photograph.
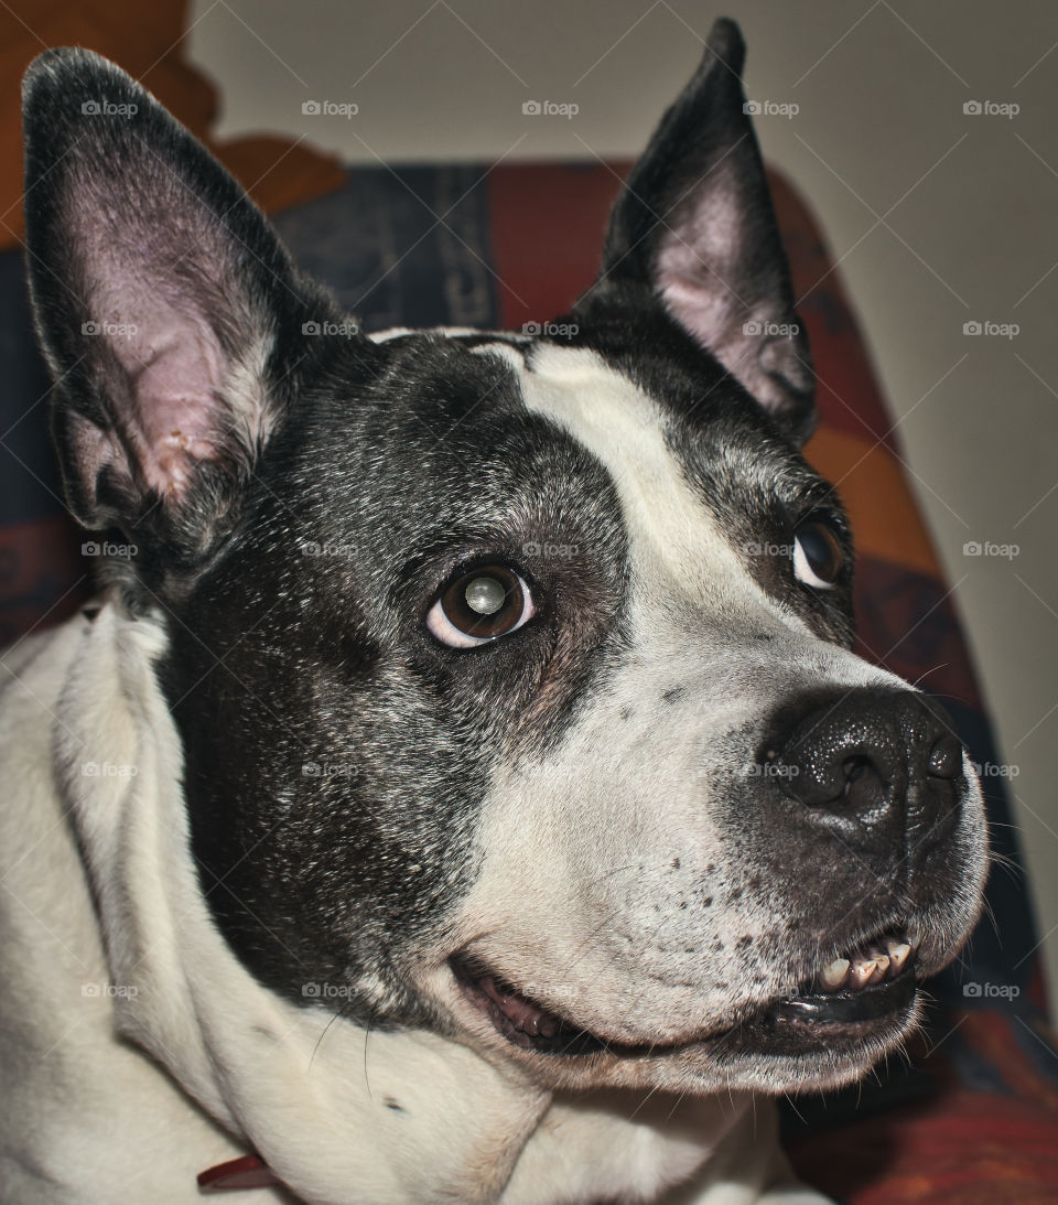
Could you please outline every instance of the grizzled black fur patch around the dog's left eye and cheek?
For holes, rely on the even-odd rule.
[[[611,482],[524,411],[506,365],[439,336],[380,352],[371,383],[340,354],[299,399],[223,560],[172,606],[163,670],[225,935],[269,986],[310,1003],[304,984],[351,986],[375,1024],[416,1015],[402,971],[472,882],[489,772],[560,734],[625,578]],[[559,542],[580,551],[524,553]],[[445,648],[430,602],[490,562],[539,613]]]

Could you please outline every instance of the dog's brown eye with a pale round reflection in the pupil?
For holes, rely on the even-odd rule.
[[[442,645],[474,648],[517,630],[535,610],[529,587],[512,569],[484,565],[445,587],[427,628]]]

